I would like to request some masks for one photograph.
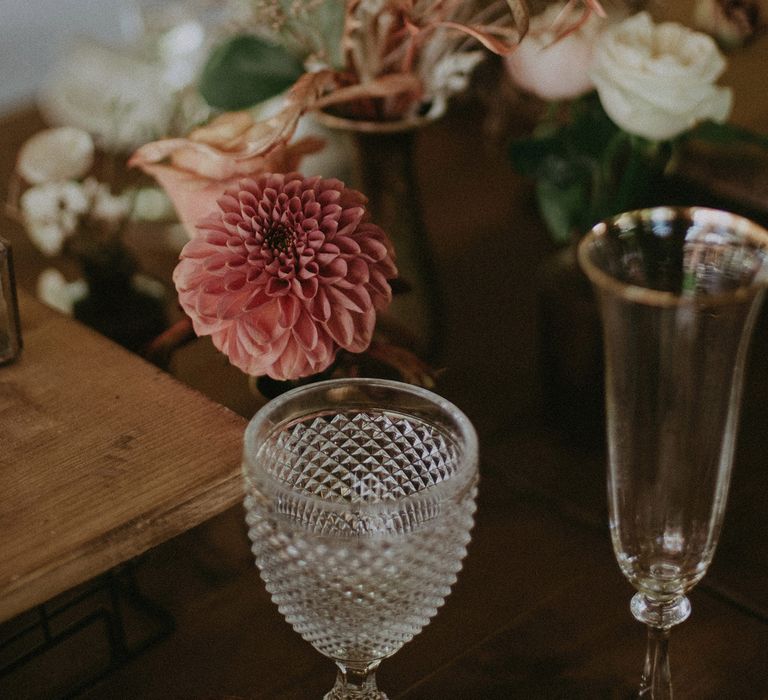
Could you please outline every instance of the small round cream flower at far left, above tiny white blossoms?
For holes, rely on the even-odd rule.
[[[77,180],[91,169],[93,155],[87,132],[68,126],[44,129],[22,146],[16,172],[31,185]]]

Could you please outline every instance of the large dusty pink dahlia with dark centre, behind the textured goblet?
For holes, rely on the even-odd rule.
[[[252,375],[297,379],[362,352],[397,275],[366,198],[298,173],[241,180],[198,225],[173,274],[198,335]]]

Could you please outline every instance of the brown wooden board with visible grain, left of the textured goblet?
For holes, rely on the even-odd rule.
[[[21,292],[0,368],[0,621],[239,500],[244,421]]]

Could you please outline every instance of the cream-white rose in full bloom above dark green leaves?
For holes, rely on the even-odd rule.
[[[711,37],[641,12],[600,35],[589,74],[618,126],[663,141],[728,118],[731,91],[714,84],[724,69]]]

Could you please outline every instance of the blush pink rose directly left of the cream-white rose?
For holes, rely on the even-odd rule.
[[[563,5],[550,5],[533,17],[528,34],[506,58],[512,81],[543,100],[571,100],[594,88],[588,68],[595,38],[606,24],[596,12],[584,21],[562,17]],[[564,28],[572,26],[572,30]]]

